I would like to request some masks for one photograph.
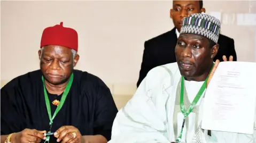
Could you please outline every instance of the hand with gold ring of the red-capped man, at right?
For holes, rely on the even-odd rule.
[[[61,143],[84,143],[80,131],[71,125],[60,127],[54,136],[58,138],[57,142],[62,140]]]

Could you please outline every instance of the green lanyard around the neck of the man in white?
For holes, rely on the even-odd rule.
[[[213,64],[214,66],[214,64]],[[212,66],[212,68],[213,68]],[[211,69],[212,71],[212,69]],[[210,73],[211,73],[210,71]],[[198,91],[197,93],[197,96],[193,99],[193,102],[191,103],[191,105],[189,106],[188,110],[186,111],[185,110],[185,107],[184,107],[184,100],[183,100],[183,93],[184,93],[184,77],[182,76],[181,77],[181,99],[180,99],[180,108],[181,108],[181,112],[182,114],[184,115],[184,119],[183,119],[183,123],[182,123],[182,127],[181,127],[181,132],[179,134],[179,137],[176,139],[176,142],[181,142],[181,138],[182,138],[182,132],[183,132],[183,128],[184,128],[184,124],[185,124],[185,119],[186,117],[193,111],[193,108],[197,105],[197,102],[198,100],[200,99],[200,97],[203,95],[204,91],[205,91],[205,88],[206,88],[206,83],[207,83],[207,80],[208,80],[208,76],[209,74],[207,75],[207,78],[205,79],[203,85],[201,86],[200,90]]]

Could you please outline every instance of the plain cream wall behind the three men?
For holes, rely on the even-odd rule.
[[[173,28],[170,7],[172,1],[1,1],[1,80],[37,70],[43,29],[63,21],[79,33],[76,69],[103,79],[120,99],[131,96],[144,41]],[[256,1],[204,1],[204,7],[234,38],[238,60],[256,61]]]

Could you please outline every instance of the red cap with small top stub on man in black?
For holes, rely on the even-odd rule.
[[[63,27],[63,22],[60,24],[45,28],[41,38],[41,48],[46,45],[64,46],[77,51],[78,35],[72,28]]]

